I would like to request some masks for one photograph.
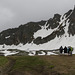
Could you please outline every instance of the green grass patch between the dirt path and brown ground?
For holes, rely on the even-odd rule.
[[[13,69],[31,70],[46,65],[46,62],[37,56],[19,56],[15,60]]]

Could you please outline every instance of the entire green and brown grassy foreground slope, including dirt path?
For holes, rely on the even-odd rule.
[[[73,56],[10,56],[10,64],[0,64],[2,75],[74,75],[75,55]],[[1,59],[0,59],[1,61]],[[7,62],[7,61],[5,61]],[[14,63],[13,63],[14,62]],[[1,67],[3,66],[3,67]],[[10,68],[9,68],[10,67]]]

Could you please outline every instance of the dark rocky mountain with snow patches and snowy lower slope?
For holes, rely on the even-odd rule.
[[[29,22],[0,33],[0,45],[14,45],[20,49],[55,49],[75,46],[75,7],[64,15],[54,14],[46,21]]]

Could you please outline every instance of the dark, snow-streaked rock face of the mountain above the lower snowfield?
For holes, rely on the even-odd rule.
[[[34,34],[39,30],[51,30],[52,32],[45,37],[38,36],[35,38]],[[38,45],[51,41],[56,36],[61,37],[66,33],[69,34],[69,37],[70,35],[75,35],[75,8],[69,10],[63,16],[55,14],[53,18],[47,21],[29,22],[20,25],[18,28],[4,30],[0,33],[0,45],[18,45],[19,43],[26,44],[31,42]]]

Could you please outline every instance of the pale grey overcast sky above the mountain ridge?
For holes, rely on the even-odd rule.
[[[30,21],[48,20],[73,9],[75,0],[0,0],[0,31]]]

